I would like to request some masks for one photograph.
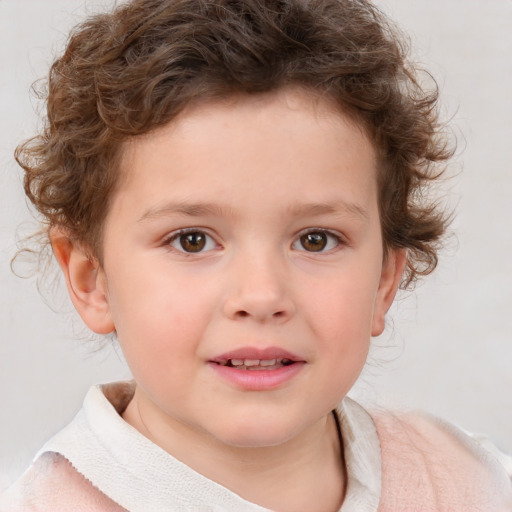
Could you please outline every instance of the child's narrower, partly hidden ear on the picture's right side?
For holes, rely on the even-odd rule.
[[[372,336],[379,336],[384,331],[386,313],[400,286],[406,257],[405,249],[393,249],[382,265],[379,289],[373,309]]]

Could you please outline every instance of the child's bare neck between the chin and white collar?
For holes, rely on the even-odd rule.
[[[180,428],[150,431],[134,399],[123,418],[155,444],[244,499],[279,512],[336,512],[346,487],[343,447],[333,414],[299,436],[258,448],[230,446]]]

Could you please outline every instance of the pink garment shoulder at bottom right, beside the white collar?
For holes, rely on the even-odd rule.
[[[381,511],[512,510],[504,467],[464,432],[419,412],[372,416],[381,445]]]

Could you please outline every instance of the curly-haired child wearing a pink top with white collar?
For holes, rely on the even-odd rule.
[[[509,510],[474,440],[346,398],[436,264],[436,101],[365,1],[138,0],[79,27],[17,156],[134,381],[91,389],[1,510]]]

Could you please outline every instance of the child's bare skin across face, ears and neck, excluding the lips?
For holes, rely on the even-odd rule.
[[[405,258],[383,254],[370,140],[326,99],[288,89],[189,108],[127,143],[122,169],[102,265],[63,230],[52,243],[83,320],[116,331],[133,372],[124,419],[250,501],[338,510],[330,411],[384,328]],[[204,249],[187,253],[180,229],[207,235]],[[211,364],[270,346],[302,361],[270,390]]]

